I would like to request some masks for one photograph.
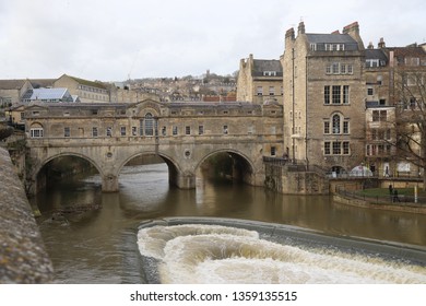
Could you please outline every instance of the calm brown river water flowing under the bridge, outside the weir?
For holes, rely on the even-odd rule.
[[[170,216],[253,220],[426,247],[426,215],[336,204],[328,196],[284,196],[260,187],[198,178],[197,189],[169,187],[166,164],[125,167],[120,191],[100,192],[100,177],[49,186],[31,200],[58,283],[143,283],[138,226]],[[70,205],[98,204],[81,213]],[[54,217],[52,217],[54,215]],[[426,262],[426,259],[425,259]]]

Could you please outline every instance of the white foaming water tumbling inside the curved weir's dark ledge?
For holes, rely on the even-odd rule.
[[[162,283],[426,283],[426,268],[339,251],[305,250],[220,225],[153,226],[138,233]]]

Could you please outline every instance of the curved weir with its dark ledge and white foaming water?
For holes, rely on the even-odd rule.
[[[426,281],[425,247],[336,237],[282,224],[171,217],[142,223],[138,238],[151,283]]]

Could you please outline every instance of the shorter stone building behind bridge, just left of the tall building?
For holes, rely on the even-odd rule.
[[[237,101],[263,104],[274,101],[283,104],[283,67],[280,60],[248,59],[239,62]]]

